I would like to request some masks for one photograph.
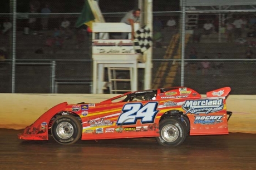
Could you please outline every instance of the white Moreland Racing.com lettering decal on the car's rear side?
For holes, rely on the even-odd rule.
[[[223,99],[188,100],[182,106],[186,114],[209,114],[221,111],[223,107]]]

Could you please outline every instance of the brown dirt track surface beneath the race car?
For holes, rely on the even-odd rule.
[[[0,169],[256,169],[256,134],[190,136],[179,147],[155,138],[78,141],[63,146],[21,141],[0,129]]]

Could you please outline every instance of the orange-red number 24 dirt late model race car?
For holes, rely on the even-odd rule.
[[[72,144],[90,139],[155,137],[163,146],[178,146],[186,136],[228,134],[226,99],[230,87],[206,97],[191,88],[173,87],[127,92],[100,103],[60,103],[18,134],[24,140]]]

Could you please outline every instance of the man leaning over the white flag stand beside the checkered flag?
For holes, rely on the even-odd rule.
[[[131,26],[131,39],[134,39],[134,23],[140,22],[140,9],[134,9],[125,14],[125,16],[121,19],[122,23],[126,23]],[[121,34],[122,39],[127,39],[129,33],[123,32]]]

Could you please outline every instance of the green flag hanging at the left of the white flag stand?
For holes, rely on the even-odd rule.
[[[95,17],[93,16],[90,4],[88,3],[88,0],[85,0],[82,12],[76,21],[76,27],[78,28],[81,27],[83,24],[86,24],[91,29],[94,19]]]

